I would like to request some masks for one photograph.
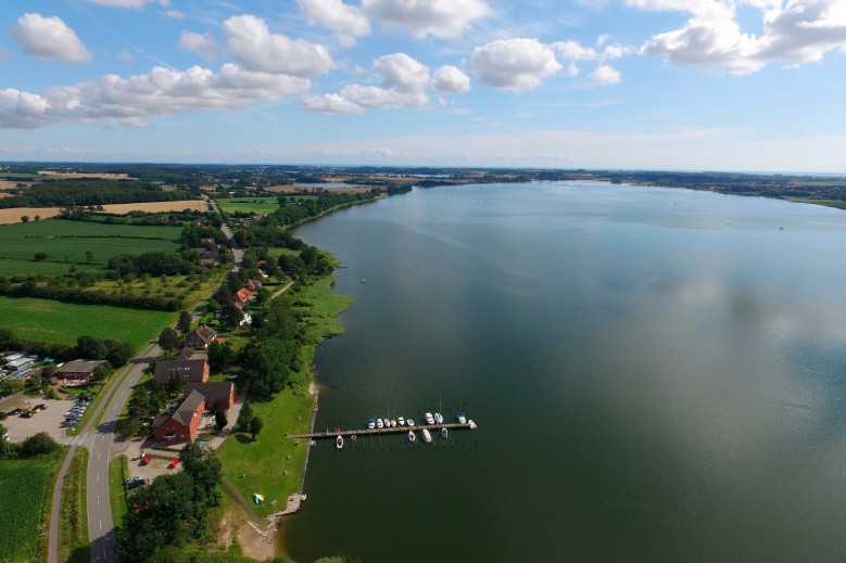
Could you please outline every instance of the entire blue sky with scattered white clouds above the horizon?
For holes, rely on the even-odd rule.
[[[0,161],[846,172],[846,0],[4,0]]]

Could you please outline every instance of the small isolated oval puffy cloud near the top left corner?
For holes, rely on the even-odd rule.
[[[12,37],[21,49],[40,61],[85,63],[92,59],[76,33],[56,16],[27,13],[12,24]]]

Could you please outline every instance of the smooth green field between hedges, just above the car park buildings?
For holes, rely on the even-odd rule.
[[[76,344],[89,334],[129,343],[135,350],[159,336],[178,312],[76,305],[29,297],[0,297],[0,328],[24,338]],[[0,558],[2,561],[2,558]]]

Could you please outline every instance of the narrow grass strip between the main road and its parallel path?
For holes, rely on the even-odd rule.
[[[88,450],[78,448],[62,485],[59,561],[68,563],[91,561],[85,487],[87,470]]]

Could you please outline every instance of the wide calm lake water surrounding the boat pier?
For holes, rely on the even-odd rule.
[[[317,428],[439,401],[479,425],[319,443],[298,561],[846,560],[846,213],[494,184],[298,234],[354,298]]]

